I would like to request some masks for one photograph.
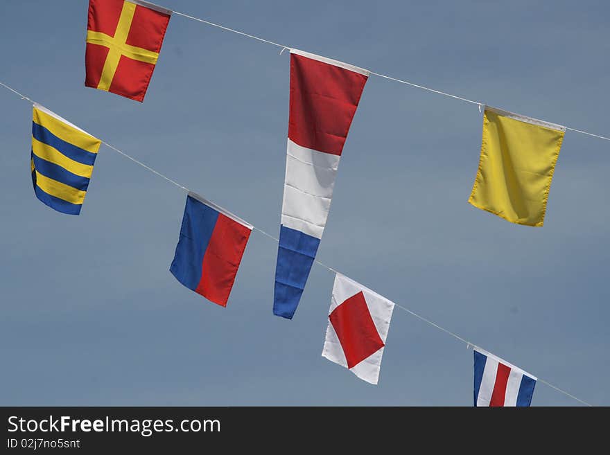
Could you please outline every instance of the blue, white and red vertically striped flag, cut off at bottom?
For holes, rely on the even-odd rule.
[[[474,405],[530,406],[537,378],[480,348],[474,348]]]

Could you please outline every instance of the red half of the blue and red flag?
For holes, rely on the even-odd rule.
[[[195,292],[211,302],[227,306],[251,232],[243,224],[222,213],[218,214],[216,226],[203,256],[201,280]]]

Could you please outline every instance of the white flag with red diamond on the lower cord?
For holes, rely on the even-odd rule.
[[[394,303],[336,274],[322,357],[377,384]]]

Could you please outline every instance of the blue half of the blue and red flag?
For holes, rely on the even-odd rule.
[[[201,280],[203,256],[209,244],[218,212],[191,196],[186,196],[180,240],[176,245],[170,271],[189,289],[197,289]]]

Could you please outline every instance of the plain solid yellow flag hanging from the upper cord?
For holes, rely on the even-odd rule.
[[[485,107],[473,206],[505,220],[542,226],[566,128]]]

